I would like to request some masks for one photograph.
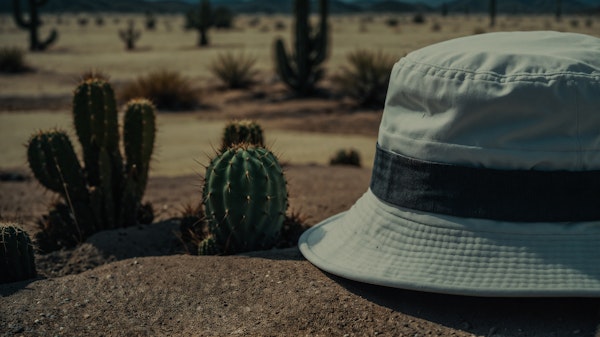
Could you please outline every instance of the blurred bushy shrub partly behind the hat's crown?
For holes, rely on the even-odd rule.
[[[381,51],[359,49],[348,54],[348,65],[333,76],[342,93],[362,106],[382,106],[396,58]]]

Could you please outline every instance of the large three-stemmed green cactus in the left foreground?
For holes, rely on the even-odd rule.
[[[141,201],[156,134],[152,103],[137,99],[127,104],[124,157],[114,92],[104,79],[90,77],[79,84],[73,119],[83,166],[64,131],[40,131],[28,144],[33,174],[62,197],[42,223],[37,240],[42,250],[73,245],[103,229],[134,225],[139,213],[148,211]]]

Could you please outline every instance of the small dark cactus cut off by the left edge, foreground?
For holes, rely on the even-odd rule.
[[[33,246],[27,232],[15,223],[0,223],[0,283],[36,276]]]

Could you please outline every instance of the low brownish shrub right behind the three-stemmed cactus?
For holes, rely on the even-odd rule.
[[[159,110],[187,110],[198,105],[199,92],[181,74],[158,70],[138,77],[126,85],[120,95],[122,101],[146,97]]]

